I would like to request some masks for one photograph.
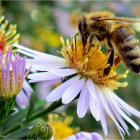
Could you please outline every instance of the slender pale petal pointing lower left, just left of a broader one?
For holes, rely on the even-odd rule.
[[[69,79],[68,81],[64,82],[63,84],[61,84],[60,86],[58,86],[57,88],[55,88],[48,96],[47,96],[47,101],[48,102],[54,102],[58,99],[60,99],[62,97],[63,92],[72,85],[72,83],[75,80],[78,80],[80,77],[79,76],[75,76],[71,79]]]

